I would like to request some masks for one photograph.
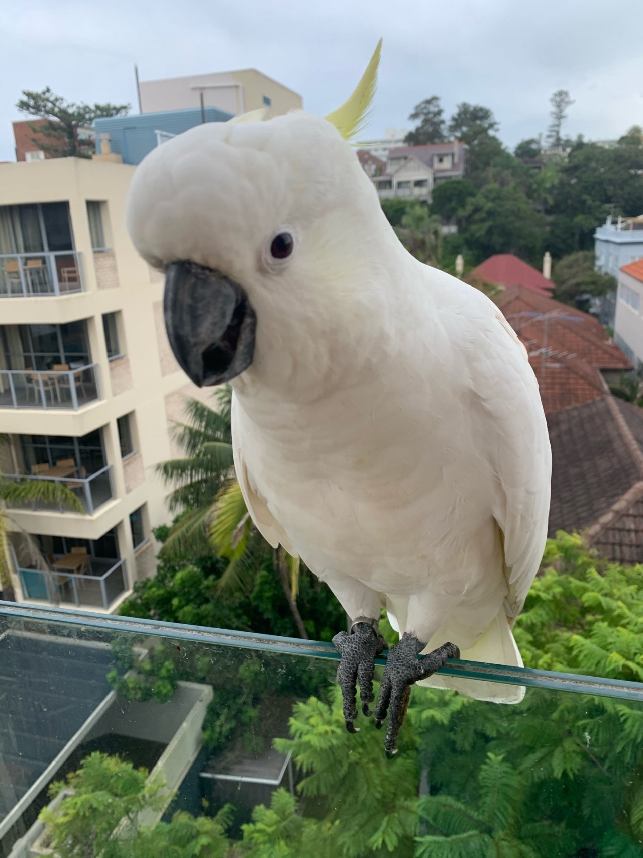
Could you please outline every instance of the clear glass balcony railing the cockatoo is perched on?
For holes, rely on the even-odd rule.
[[[372,719],[346,732],[337,659],[0,603],[0,854],[641,855],[643,684],[449,662],[525,698],[415,686],[390,760]]]

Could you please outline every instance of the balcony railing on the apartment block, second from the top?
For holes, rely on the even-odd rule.
[[[100,399],[96,364],[71,370],[0,370],[0,408],[73,408]]]

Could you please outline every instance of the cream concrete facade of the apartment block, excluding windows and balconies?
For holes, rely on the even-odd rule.
[[[183,419],[185,396],[209,396],[191,384],[171,357],[159,308],[163,278],[152,273],[129,241],[125,228],[125,198],[134,167],[98,160],[64,158],[0,165],[0,206],[21,202],[68,201],[75,250],[85,274],[83,293],[40,298],[0,298],[0,324],[65,323],[84,319],[93,362],[98,364],[101,398],[78,411],[56,408],[1,408],[2,431],[9,434],[77,436],[99,427],[105,439],[116,499],[93,516],[20,511],[12,513],[27,532],[98,539],[116,527],[121,557],[127,561],[130,583],[136,570],[153,571],[149,562],[136,562],[129,514],[147,509],[151,528],[170,521],[165,487],[154,474],[158,462],[171,458],[168,416]],[[103,202],[105,234],[110,254],[93,253],[87,221],[87,200]],[[102,315],[119,313],[119,347],[123,358],[108,361]],[[180,391],[180,392],[179,392]],[[171,414],[165,403],[171,398]],[[132,414],[136,462],[123,460],[117,418]],[[127,474],[127,475],[126,475]],[[151,536],[151,533],[148,535]],[[18,592],[20,592],[18,590]]]

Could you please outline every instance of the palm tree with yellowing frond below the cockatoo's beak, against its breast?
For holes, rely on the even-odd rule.
[[[177,423],[175,438],[185,456],[159,464],[173,512],[182,512],[160,551],[166,560],[186,553],[210,552],[227,560],[218,592],[231,595],[251,589],[269,559],[279,577],[301,637],[308,634],[297,608],[299,560],[282,547],[273,549],[255,528],[234,474],[231,445],[231,388],[215,393],[217,408],[190,399],[188,422]]]

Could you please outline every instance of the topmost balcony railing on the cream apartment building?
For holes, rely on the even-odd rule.
[[[81,254],[75,251],[0,255],[0,298],[67,295],[84,288]]]

